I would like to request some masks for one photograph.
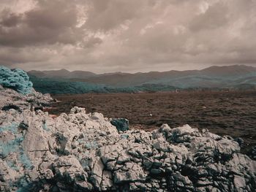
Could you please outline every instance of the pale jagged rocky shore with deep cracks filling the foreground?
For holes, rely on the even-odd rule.
[[[188,125],[118,131],[74,107],[0,86],[0,191],[255,191],[256,161],[231,137]]]

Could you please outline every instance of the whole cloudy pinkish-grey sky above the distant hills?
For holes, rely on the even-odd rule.
[[[256,66],[255,0],[1,0],[0,65],[148,72]]]

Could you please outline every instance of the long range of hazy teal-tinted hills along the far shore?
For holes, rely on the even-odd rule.
[[[211,66],[202,70],[146,72],[146,73],[109,73],[94,74],[92,72],[66,69],[56,71],[30,71],[34,86],[41,86],[44,80],[55,82],[55,85],[66,83],[77,92],[87,93],[88,89],[80,91],[83,85],[96,92],[136,92],[136,91],[172,91],[178,89],[255,89],[256,68],[252,66]],[[41,84],[40,84],[41,83]],[[58,84],[59,83],[59,84]],[[57,87],[57,86],[56,86]],[[56,88],[53,88],[56,89]],[[43,89],[39,90],[42,92]],[[51,89],[49,90],[51,91]],[[61,93],[61,90],[58,93]],[[69,91],[62,91],[69,92]],[[71,91],[72,92],[72,91]]]

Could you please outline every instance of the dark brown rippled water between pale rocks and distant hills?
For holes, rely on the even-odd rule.
[[[132,128],[157,128],[189,124],[208,128],[219,135],[244,139],[243,151],[256,145],[256,91],[180,92],[180,93],[89,93],[53,96],[50,114],[59,115],[74,107],[102,112],[108,118],[127,118]]]

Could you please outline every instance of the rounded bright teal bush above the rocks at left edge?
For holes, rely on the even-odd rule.
[[[0,66],[0,85],[23,94],[31,93],[33,87],[26,72],[22,69],[9,69],[5,66]]]

